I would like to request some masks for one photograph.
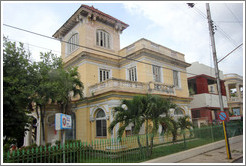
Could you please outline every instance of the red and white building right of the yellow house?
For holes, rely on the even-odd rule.
[[[205,65],[201,67],[201,71],[203,71],[205,67],[211,70],[210,67],[204,66]],[[213,71],[213,69],[211,71]],[[192,71],[189,72],[192,73]],[[189,91],[191,97],[193,97],[190,105],[192,121],[198,127],[203,124],[208,125],[219,122],[218,114],[220,113],[220,103],[217,90],[217,81],[215,77],[209,76],[207,73],[190,77],[188,76]],[[224,110],[227,115],[229,115],[224,80],[220,81],[220,86]]]

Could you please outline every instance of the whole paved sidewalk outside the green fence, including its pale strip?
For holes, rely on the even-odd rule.
[[[229,139],[232,159],[227,158],[225,140],[146,161],[144,163],[231,163],[243,156],[243,136]]]

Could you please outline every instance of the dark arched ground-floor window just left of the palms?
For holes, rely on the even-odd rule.
[[[99,109],[96,114],[96,136],[97,137],[107,136],[106,115],[102,109]]]

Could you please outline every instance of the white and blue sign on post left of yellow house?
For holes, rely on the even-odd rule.
[[[71,129],[72,128],[72,118],[70,115],[57,113],[55,119],[55,129],[63,130],[63,129]]]

